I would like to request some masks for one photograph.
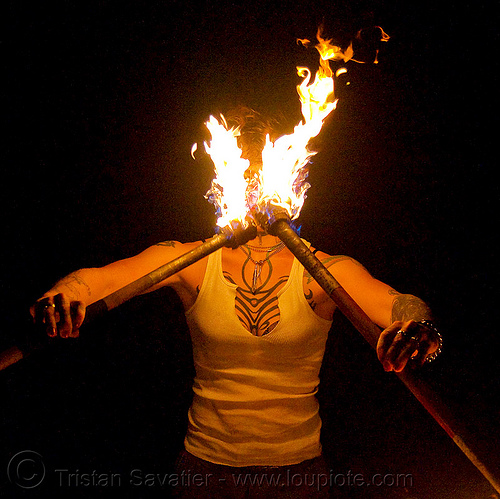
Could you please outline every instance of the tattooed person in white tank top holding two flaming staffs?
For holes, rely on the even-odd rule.
[[[226,118],[240,127],[250,181],[270,124],[249,109]],[[102,268],[73,272],[32,306],[34,320],[44,323],[49,336],[76,337],[88,305],[200,244],[167,241]],[[386,371],[435,358],[440,336],[420,298],[395,291],[350,257],[310,249],[381,328],[377,355]],[[204,487],[177,487],[176,493],[243,497],[243,485],[226,479],[242,470],[278,473],[283,467],[283,476],[287,470],[328,476],[315,394],[336,305],[282,241],[259,226],[247,244],[221,248],[151,290],[161,286],[172,287],[183,303],[196,367],[177,471],[215,477]],[[249,480],[244,487],[261,494],[262,487],[274,487],[266,497],[328,496],[326,485],[318,490],[301,483],[277,487]]]

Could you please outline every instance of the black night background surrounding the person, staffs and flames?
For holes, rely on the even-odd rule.
[[[381,25],[391,39],[378,44],[380,63],[349,62],[337,80],[340,100],[317,141],[302,236],[431,305],[445,349],[424,376],[476,440],[496,450],[491,5],[16,1],[2,10],[1,345],[26,333],[29,305],[68,272],[161,240],[212,235],[203,198],[211,166],[190,157],[208,115],[246,104],[295,124],[295,66],[317,67],[316,52],[296,38],[313,39],[323,22],[345,44]],[[369,38],[359,47],[367,58],[377,47]],[[357,333],[342,318],[335,327],[321,393],[332,468],[414,477],[406,490],[339,492],[497,497]],[[85,333],[0,374],[2,497],[112,493],[60,487],[52,474],[60,468],[171,470],[192,375],[176,297],[168,290],[141,297]],[[25,449],[41,453],[49,470],[36,490],[18,489],[4,473]],[[498,467],[493,451],[489,459]]]

